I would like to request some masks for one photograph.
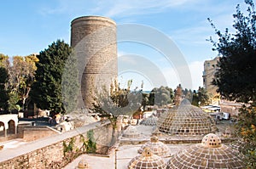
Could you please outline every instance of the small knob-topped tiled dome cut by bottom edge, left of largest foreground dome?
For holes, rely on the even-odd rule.
[[[128,169],[165,169],[166,162],[154,155],[152,150],[146,147],[142,155],[137,155],[128,164]]]

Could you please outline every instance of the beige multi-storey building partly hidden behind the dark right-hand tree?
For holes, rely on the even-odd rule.
[[[219,57],[216,57],[212,60],[206,60],[204,62],[204,71],[203,71],[203,86],[207,90],[207,93],[212,95],[212,104],[218,104],[218,93],[216,92],[216,86],[212,85],[212,80],[214,79],[214,74],[218,71],[218,60]]]

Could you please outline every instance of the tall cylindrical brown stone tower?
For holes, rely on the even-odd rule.
[[[83,16],[71,23],[71,46],[79,59],[81,96],[90,108],[96,91],[109,88],[118,76],[116,24],[101,16]],[[81,99],[80,99],[81,102]]]

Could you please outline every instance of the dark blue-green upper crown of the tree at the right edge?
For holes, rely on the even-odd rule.
[[[226,99],[241,102],[256,99],[256,16],[253,1],[245,2],[248,14],[241,13],[240,5],[233,14],[235,34],[230,34],[228,29],[224,33],[218,31],[210,20],[218,35],[218,42],[211,38],[213,50],[222,56],[212,84]]]

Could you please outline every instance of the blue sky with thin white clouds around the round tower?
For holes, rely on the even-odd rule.
[[[114,20],[118,31],[122,25],[152,31],[148,41],[156,42],[153,46],[144,40],[117,43],[119,82],[125,84],[132,79],[134,86],[140,86],[143,81],[143,90],[161,85],[175,88],[182,83],[194,90],[203,86],[204,61],[218,55],[207,41],[215,38],[207,18],[220,31],[232,31],[232,14],[236,13],[237,4],[246,8],[243,0],[2,1],[0,53],[25,56],[38,54],[57,39],[70,43],[72,20],[100,15]],[[168,42],[164,41],[166,38]],[[173,54],[169,56],[165,51],[171,46],[172,51],[167,53]]]

